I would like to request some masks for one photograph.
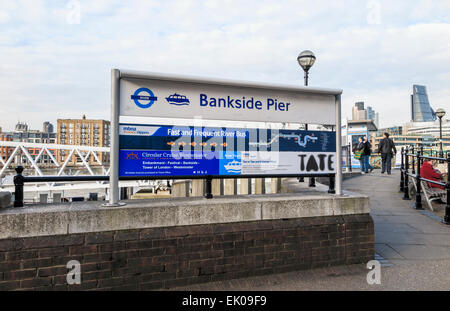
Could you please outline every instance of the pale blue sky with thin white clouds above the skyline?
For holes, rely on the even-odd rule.
[[[343,117],[408,122],[413,84],[450,114],[448,0],[2,0],[0,127],[109,119],[112,68],[302,85],[306,49]]]

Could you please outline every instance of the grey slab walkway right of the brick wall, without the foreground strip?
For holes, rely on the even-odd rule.
[[[378,170],[344,184],[347,190],[370,196],[375,223],[375,252],[394,264],[450,260],[450,226],[433,219],[434,215],[427,210],[413,209],[413,200],[402,200],[398,192],[399,178],[398,171],[389,176],[380,174]]]

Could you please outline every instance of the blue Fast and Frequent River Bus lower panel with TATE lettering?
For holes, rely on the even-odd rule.
[[[119,176],[336,172],[329,131],[120,125]]]

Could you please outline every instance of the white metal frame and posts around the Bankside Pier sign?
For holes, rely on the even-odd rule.
[[[161,73],[141,72],[141,71],[129,71],[129,70],[111,70],[111,156],[110,156],[110,191],[109,191],[109,203],[107,206],[119,206],[119,125],[120,125],[120,90],[121,79],[135,79],[135,80],[164,80],[172,82],[189,82],[199,85],[216,85],[238,88],[253,88],[262,90],[273,90],[278,92],[295,92],[298,94],[306,95],[323,95],[329,97],[334,96],[334,114],[335,114],[335,129],[336,129],[336,195],[342,195],[342,163],[340,161],[342,157],[341,150],[341,94],[340,89],[326,89],[326,88],[313,88],[313,87],[297,87],[292,85],[282,84],[269,84],[269,83],[257,83],[248,81],[237,80],[225,80],[225,79],[211,79],[200,78],[184,75],[169,75]],[[158,117],[158,116],[155,116]],[[302,174],[302,176],[331,176],[333,174]],[[264,177],[296,177],[298,174],[292,175],[255,175],[255,176],[228,176],[226,178],[264,178]],[[176,176],[178,179],[189,177],[190,179],[207,179],[214,176]],[[217,178],[224,178],[223,176],[215,176]],[[136,177],[133,177],[136,179]],[[139,179],[170,179],[167,176],[149,176],[139,177]],[[121,177],[121,179],[127,179]]]

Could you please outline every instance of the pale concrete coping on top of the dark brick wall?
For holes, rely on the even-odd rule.
[[[258,220],[368,214],[367,196],[321,193],[40,205],[0,211],[0,239]]]

